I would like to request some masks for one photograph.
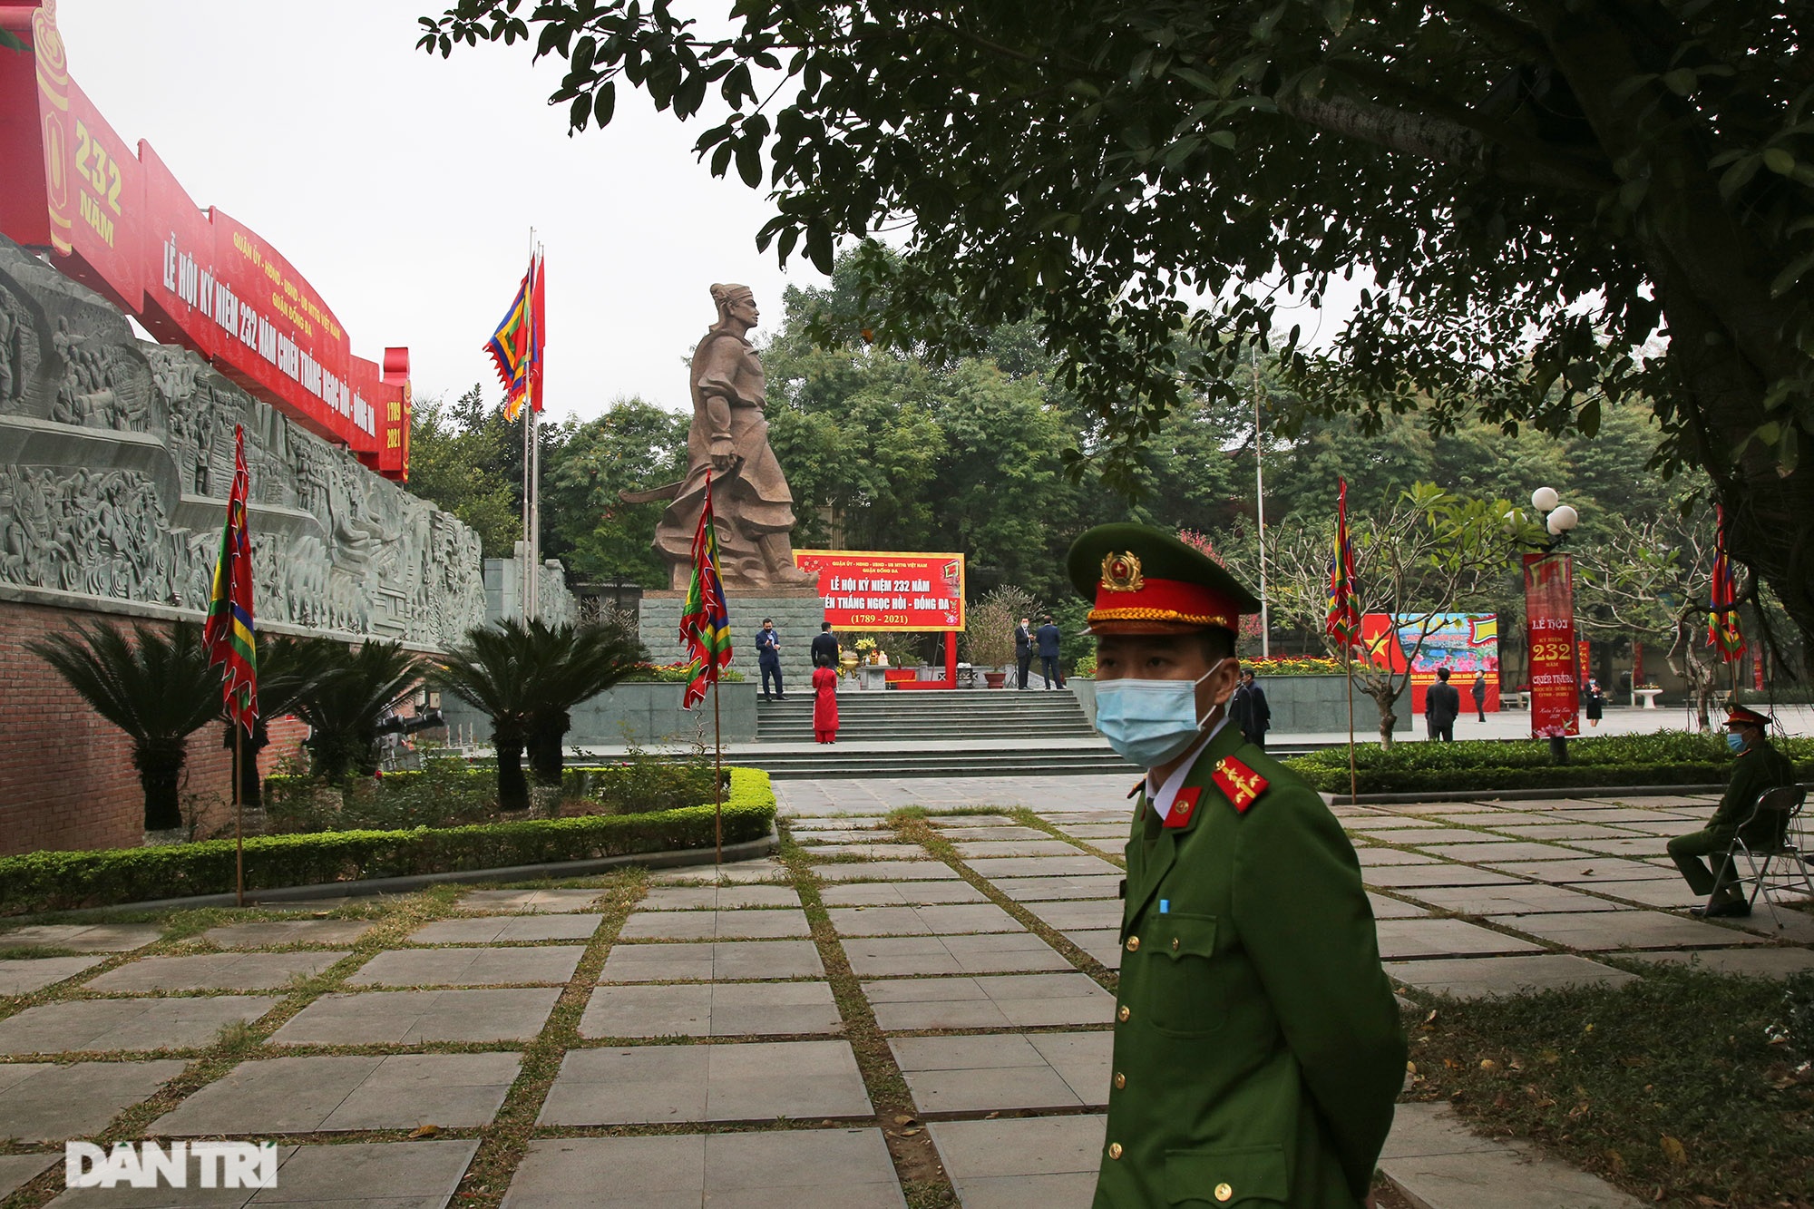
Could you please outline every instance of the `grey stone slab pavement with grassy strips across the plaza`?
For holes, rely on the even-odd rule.
[[[56,1144],[112,1127],[278,1138],[285,1204],[443,1205],[483,1178],[512,1209],[900,1209],[903,1144],[925,1131],[934,1178],[969,1209],[1081,1209],[1108,1080],[1125,784],[1041,781],[1036,801],[1034,782],[840,784],[782,782],[802,859],[718,882],[673,870],[628,895],[602,882],[443,891],[395,917],[258,919],[187,940],[147,924],[0,933],[0,948],[58,953],[0,960],[0,1144],[13,1151],[0,1198],[29,1184],[20,1204],[49,1204],[60,1176],[40,1173]],[[932,821],[951,862],[878,817],[902,804],[969,811]],[[983,813],[1012,804],[1052,831]],[[1413,993],[1618,984],[1653,962],[1814,968],[1814,935],[1685,915],[1660,844],[1709,810],[1558,799],[1337,813],[1388,971]],[[896,1071],[885,1095],[911,1113],[878,1113]],[[506,1122],[524,1145],[488,1158]],[[1477,1202],[1457,1189],[1522,1162],[1408,1106],[1384,1165],[1458,1209]],[[1529,1191],[1540,1171],[1518,1167],[1527,1204],[1542,1202]],[[1625,1204],[1578,1173],[1556,1178],[1567,1204]],[[154,1202],[83,1191],[54,1204]]]

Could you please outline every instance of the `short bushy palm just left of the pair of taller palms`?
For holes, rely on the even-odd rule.
[[[377,726],[423,679],[419,659],[403,643],[365,643],[348,650],[323,641],[319,675],[296,693],[294,713],[308,722],[314,775],[337,782],[377,772]]]

